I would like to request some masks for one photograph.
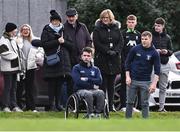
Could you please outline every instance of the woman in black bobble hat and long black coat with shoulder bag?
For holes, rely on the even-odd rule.
[[[50,24],[46,25],[41,34],[42,47],[45,51],[43,64],[43,78],[48,82],[50,110],[62,110],[60,106],[61,87],[67,82],[68,95],[72,92],[71,84],[71,62],[69,52],[72,45],[68,38],[63,36],[63,24],[61,17],[55,10],[50,11]],[[49,66],[46,56],[54,54],[59,49],[60,62]],[[69,86],[70,85],[70,86]],[[55,100],[55,103],[54,103]]]

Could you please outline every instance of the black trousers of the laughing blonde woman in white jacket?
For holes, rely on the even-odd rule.
[[[27,70],[25,79],[21,78],[21,81],[18,82],[17,87],[17,102],[21,107],[23,92],[25,91],[25,102],[26,110],[35,110],[35,99],[34,99],[34,76],[35,69]]]

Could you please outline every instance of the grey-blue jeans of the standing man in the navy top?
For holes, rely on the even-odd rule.
[[[127,104],[126,118],[132,117],[132,110],[137,96],[137,91],[140,90],[142,117],[149,116],[149,86],[151,81],[135,81],[132,80],[130,87],[127,87]]]

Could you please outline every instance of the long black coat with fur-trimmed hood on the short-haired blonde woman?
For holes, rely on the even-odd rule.
[[[100,20],[96,22],[93,31],[93,42],[95,47],[95,65],[102,73],[115,75],[121,71],[121,50],[123,38],[119,22],[115,21],[110,25],[103,24]],[[109,51],[116,54],[110,54]]]

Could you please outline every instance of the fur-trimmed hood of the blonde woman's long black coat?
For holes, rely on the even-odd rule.
[[[103,27],[103,26],[106,26],[106,24],[103,24],[100,19],[97,19],[95,22],[95,27]],[[115,26],[115,27],[118,27],[120,29],[121,23],[117,20],[114,20],[109,26]]]

